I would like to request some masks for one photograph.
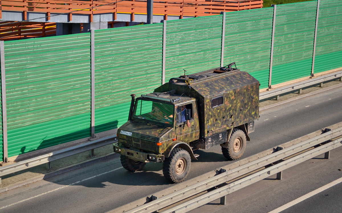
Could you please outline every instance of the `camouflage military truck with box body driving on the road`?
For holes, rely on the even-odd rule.
[[[128,122],[114,144],[122,166],[135,172],[163,162],[165,178],[179,183],[197,149],[221,145],[225,158],[239,159],[259,116],[259,81],[233,65],[171,78],[138,98],[132,94]]]

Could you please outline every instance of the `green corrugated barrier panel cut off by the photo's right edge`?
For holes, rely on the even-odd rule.
[[[320,0],[314,73],[342,67],[342,1]]]

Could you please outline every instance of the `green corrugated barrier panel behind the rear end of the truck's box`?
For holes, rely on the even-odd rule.
[[[268,87],[273,8],[226,13],[224,64],[236,62]]]

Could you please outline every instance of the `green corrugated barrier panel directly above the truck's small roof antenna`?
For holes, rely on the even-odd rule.
[[[165,80],[219,67],[222,15],[167,21]]]

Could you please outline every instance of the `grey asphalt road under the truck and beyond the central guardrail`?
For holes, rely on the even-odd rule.
[[[260,119],[255,122],[255,132],[250,134],[251,141],[247,143],[244,158],[341,122],[341,103],[342,89],[339,87],[262,111]],[[231,163],[223,157],[219,146],[205,151],[197,150],[196,153],[200,155],[199,160],[192,162],[187,179]],[[330,160],[306,161],[293,170],[286,170],[281,181],[262,180],[229,195],[226,206],[213,202],[194,211],[269,212],[341,177],[342,172],[337,170],[338,166],[342,167],[341,162],[341,149],[334,150]],[[130,173],[121,167],[117,156],[0,193],[0,211],[107,212],[172,186],[163,178],[161,169],[161,163],[148,163],[143,171]],[[341,203],[340,189],[341,184],[336,185],[305,202],[318,205],[318,201],[327,200],[333,203],[333,198],[325,196],[330,193],[331,197],[339,196],[335,202]],[[319,197],[322,195],[325,199]],[[312,210],[303,203],[292,206],[297,209],[287,209],[286,212]],[[341,204],[336,205],[336,208],[340,210]],[[327,212],[333,212],[330,210],[327,209]]]

